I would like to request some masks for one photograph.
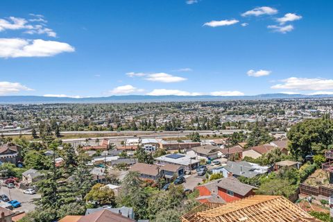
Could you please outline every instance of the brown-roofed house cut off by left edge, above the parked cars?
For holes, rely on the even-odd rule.
[[[22,147],[8,143],[0,146],[0,162],[10,162],[17,164],[21,160]]]

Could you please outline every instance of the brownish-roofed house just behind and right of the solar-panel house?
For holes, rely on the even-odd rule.
[[[205,146],[196,146],[187,151],[187,155],[196,157],[197,160],[215,160],[218,158],[220,148],[216,146],[205,145]]]

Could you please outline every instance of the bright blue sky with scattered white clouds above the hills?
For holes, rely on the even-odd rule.
[[[333,94],[333,1],[3,1],[0,95]]]

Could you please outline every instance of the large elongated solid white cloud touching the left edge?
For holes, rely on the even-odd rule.
[[[0,58],[47,57],[74,51],[65,42],[0,38]]]

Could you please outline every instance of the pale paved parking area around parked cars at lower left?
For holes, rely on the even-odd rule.
[[[0,194],[6,194],[10,200],[18,200],[21,203],[21,207],[17,207],[14,211],[31,212],[35,210],[35,204],[32,203],[34,198],[40,198],[40,194],[23,194],[22,189],[8,187],[0,187]]]

